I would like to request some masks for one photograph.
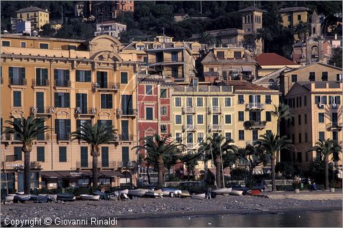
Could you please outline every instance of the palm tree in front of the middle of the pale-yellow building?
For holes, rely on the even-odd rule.
[[[230,151],[235,152],[237,150],[237,146],[233,145],[233,139],[225,140],[225,137],[222,135],[212,135],[207,138],[207,141],[209,141],[209,143],[200,143],[200,148],[198,149],[198,151],[201,153],[206,151],[209,159],[213,159],[216,169],[217,187],[220,188],[222,187],[221,172],[223,155]]]

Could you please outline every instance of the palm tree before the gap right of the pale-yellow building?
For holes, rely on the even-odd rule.
[[[279,135],[274,135],[274,133],[266,133],[260,135],[261,139],[257,140],[257,145],[261,146],[265,152],[270,154],[272,159],[272,191],[276,191],[275,185],[275,159],[276,152],[286,148],[291,143],[286,136],[280,137]]]

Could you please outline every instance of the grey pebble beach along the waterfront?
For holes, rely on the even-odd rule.
[[[73,201],[66,203],[10,203],[1,205],[5,218],[175,218],[213,214],[261,214],[294,211],[341,210],[342,200],[272,199],[258,196],[217,196],[196,198],[139,198],[128,201]]]

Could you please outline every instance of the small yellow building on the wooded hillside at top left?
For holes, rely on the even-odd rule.
[[[18,10],[16,11],[16,19],[12,19],[12,30],[15,27],[16,22],[30,21],[31,29],[38,32],[43,25],[49,23],[49,14],[50,12],[47,10],[35,6]]]

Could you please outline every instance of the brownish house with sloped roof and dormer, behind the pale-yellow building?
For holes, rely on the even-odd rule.
[[[257,61],[243,47],[215,47],[201,64],[204,78],[220,80],[253,80],[259,69]]]

